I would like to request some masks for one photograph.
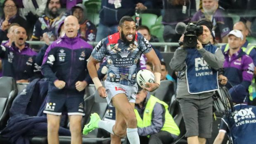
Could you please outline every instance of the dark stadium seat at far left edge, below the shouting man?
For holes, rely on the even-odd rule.
[[[18,94],[16,81],[12,77],[0,78],[0,130],[2,130],[9,119],[9,109],[14,98]]]

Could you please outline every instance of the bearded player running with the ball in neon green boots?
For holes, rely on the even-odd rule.
[[[119,21],[118,33],[102,39],[92,51],[87,68],[100,97],[107,98],[109,106],[115,106],[116,122],[104,121],[97,113],[92,113],[90,122],[83,128],[87,135],[95,128],[103,128],[118,137],[127,135],[131,144],[139,144],[137,119],[134,112],[136,93],[137,63],[144,53],[154,66],[155,83],[146,83],[145,90],[156,90],[160,85],[161,65],[149,41],[135,32],[135,21],[124,16]],[[107,80],[102,86],[96,64],[106,57]]]

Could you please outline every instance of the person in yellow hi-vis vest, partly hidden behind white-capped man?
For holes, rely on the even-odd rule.
[[[247,28],[247,25],[244,22],[239,21],[234,24],[233,29],[242,32],[243,40],[241,44],[241,49],[243,52],[245,52],[247,55],[251,57],[251,59],[254,61],[254,66],[256,66],[256,47],[254,45],[251,45],[251,43],[249,43],[248,40],[246,39],[249,34],[249,29]],[[221,48],[224,50],[224,52],[227,52],[229,49],[229,45],[223,45]],[[254,76],[256,76],[256,67],[254,67]],[[253,101],[253,99],[255,98],[253,97],[253,90],[255,90],[254,83],[255,79],[253,78],[251,86],[249,86],[249,94],[251,101]]]

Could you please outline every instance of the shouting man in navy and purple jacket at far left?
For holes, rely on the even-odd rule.
[[[26,39],[26,30],[18,27],[14,30],[12,45],[1,45],[0,49],[2,75],[13,77],[17,83],[28,83],[40,75],[40,69],[35,67],[36,52],[31,50]]]

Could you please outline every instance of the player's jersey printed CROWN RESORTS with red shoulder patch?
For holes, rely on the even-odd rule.
[[[140,56],[151,50],[149,41],[140,33],[135,34],[133,44],[123,42],[119,33],[114,33],[98,43],[92,51],[92,57],[98,61],[102,61],[106,57],[107,81],[122,85],[134,85]]]

